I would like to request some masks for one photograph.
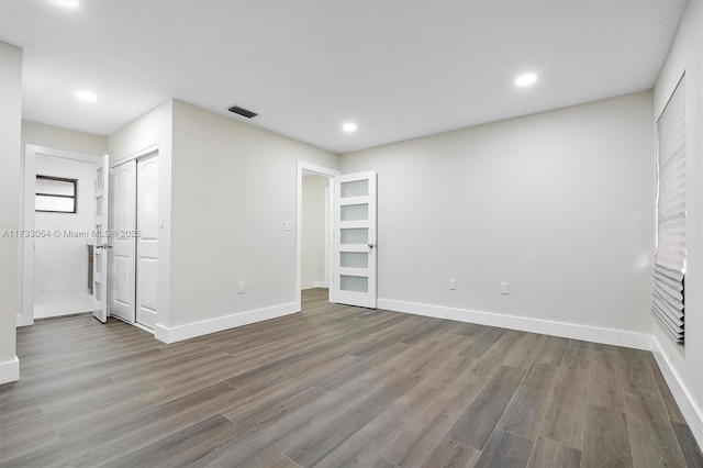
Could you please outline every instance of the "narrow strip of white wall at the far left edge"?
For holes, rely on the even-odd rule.
[[[0,231],[20,230],[22,49],[0,42]],[[0,237],[0,383],[16,380],[16,315],[21,313],[21,244]]]

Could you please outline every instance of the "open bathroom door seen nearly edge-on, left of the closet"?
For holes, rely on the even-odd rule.
[[[110,166],[108,156],[103,156],[102,165],[96,168],[96,245],[92,261],[92,297],[96,310],[92,314],[100,322],[108,321],[108,207],[110,196]]]

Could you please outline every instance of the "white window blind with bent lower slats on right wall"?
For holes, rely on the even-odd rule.
[[[685,76],[657,121],[657,250],[651,313],[677,344],[685,330]]]

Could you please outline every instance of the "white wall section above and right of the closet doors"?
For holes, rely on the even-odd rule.
[[[114,163],[149,147],[158,147],[158,211],[164,226],[158,238],[158,323],[168,324],[170,313],[171,239],[171,144],[172,101],[164,102],[108,137],[110,161]]]

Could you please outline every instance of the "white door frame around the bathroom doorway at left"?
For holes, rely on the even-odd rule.
[[[36,193],[37,156],[56,157],[94,165],[103,161],[102,156],[68,152],[30,143],[24,145],[24,231],[34,231],[36,226],[34,197]],[[105,168],[105,170],[109,170],[109,168]],[[34,238],[23,237],[22,244],[22,312],[16,315],[16,326],[34,324]]]

